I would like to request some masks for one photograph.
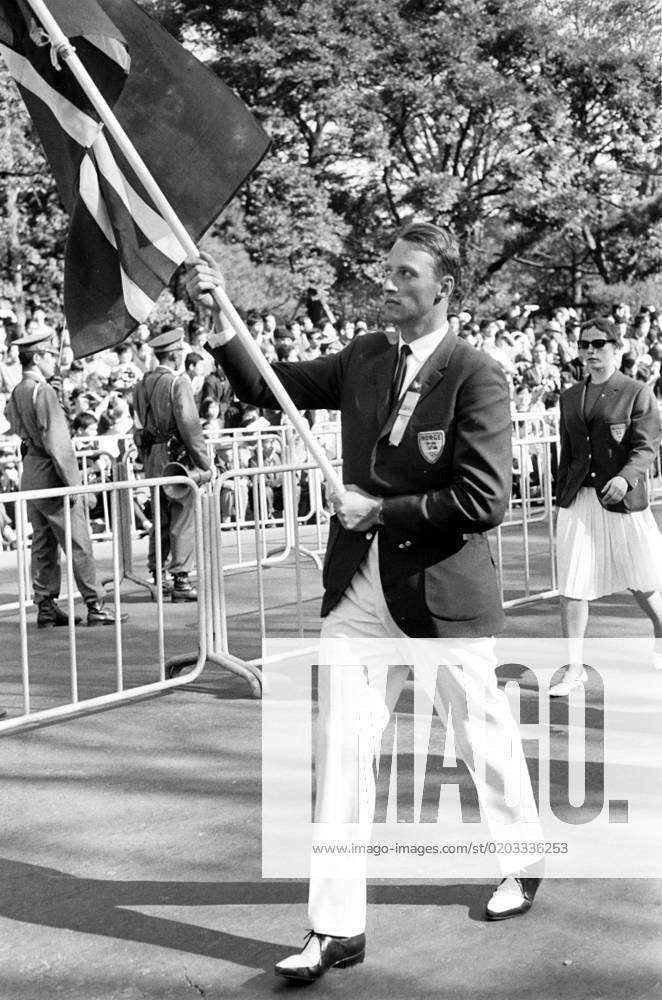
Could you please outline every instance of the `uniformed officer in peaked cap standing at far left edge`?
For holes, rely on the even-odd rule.
[[[81,476],[64,410],[48,381],[55,374],[58,357],[51,333],[40,331],[15,343],[19,348],[23,378],[11,395],[7,418],[13,433],[23,442],[21,489],[80,486]],[[113,625],[113,614],[103,606],[103,589],[97,582],[84,500],[79,495],[27,502],[32,525],[31,572],[34,601],[38,607],[37,627],[69,624],[68,615],[56,603],[61,583],[59,548],[65,546],[65,503],[71,505],[73,572],[87,605],[87,624]],[[76,618],[75,624],[80,620]]]

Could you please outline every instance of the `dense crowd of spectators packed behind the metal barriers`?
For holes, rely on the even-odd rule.
[[[636,314],[626,303],[611,310],[623,345],[621,370],[651,385],[662,399],[662,329],[657,310],[642,307]],[[449,315],[451,329],[478,350],[491,355],[503,369],[511,386],[513,415],[554,411],[560,393],[583,376],[578,350],[581,317],[570,307],[543,314],[534,304],[513,304],[502,315],[476,319],[470,312]],[[249,313],[246,325],[269,361],[299,361],[342,350],[354,337],[368,332],[363,319],[331,321],[321,317],[314,324],[306,314],[280,321],[272,313]],[[113,350],[74,360],[61,317],[35,308],[26,323],[18,323],[11,303],[0,301],[0,493],[17,488],[15,447],[5,417],[6,401],[21,378],[17,337],[52,330],[60,350],[59,392],[70,422],[72,438],[85,448],[103,438],[130,437],[133,429],[132,397],[146,371],[156,367],[149,346],[156,332],[139,325],[131,337]],[[285,419],[279,412],[258,411],[242,405],[234,396],[220,366],[205,350],[208,331],[192,323],[186,331],[186,377],[191,380],[203,429],[216,439],[216,460],[221,469],[230,463],[255,463],[250,448],[231,447],[223,441],[229,428],[265,428]],[[393,327],[383,333],[397,338]],[[333,418],[326,412],[306,414],[315,424]],[[220,440],[219,440],[220,436]],[[106,445],[112,454],[112,446]],[[278,461],[277,448],[269,455]],[[148,519],[144,517],[145,525]],[[0,537],[13,539],[13,527],[0,504]]]

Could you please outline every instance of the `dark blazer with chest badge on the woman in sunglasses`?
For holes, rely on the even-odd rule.
[[[648,506],[645,476],[660,446],[655,397],[643,382],[614,372],[585,417],[587,381],[561,394],[556,502],[559,507],[569,507],[588,482],[605,509],[621,513],[644,510]],[[629,488],[620,503],[605,504],[601,491],[613,476],[623,476]]]

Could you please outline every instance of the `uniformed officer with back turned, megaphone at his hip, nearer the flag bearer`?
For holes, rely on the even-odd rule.
[[[191,381],[181,371],[184,339],[181,329],[167,330],[149,341],[158,366],[147,372],[134,393],[134,437],[143,459],[145,476],[162,476],[166,465],[183,461],[198,469],[210,470],[200,417],[193,398]],[[174,446],[174,447],[173,447]],[[176,454],[179,452],[179,454]],[[166,496],[161,489],[161,553],[170,556],[174,586],[156,578],[156,528],[149,540],[148,567],[158,585],[171,593],[171,600],[195,601],[197,592],[189,581],[195,564],[194,509],[191,497],[181,500]]]

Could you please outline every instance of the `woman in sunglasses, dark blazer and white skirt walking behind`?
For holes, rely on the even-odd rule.
[[[660,444],[657,403],[648,386],[618,371],[620,339],[611,319],[584,323],[579,350],[588,375],[560,400],[556,495],[563,635],[582,639],[588,602],[628,589],[661,638],[662,535],[648,506],[645,478]],[[585,680],[581,662],[571,663],[550,695],[567,695]]]

